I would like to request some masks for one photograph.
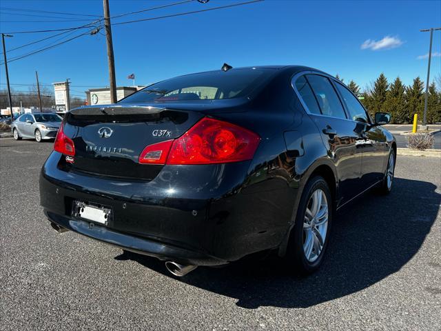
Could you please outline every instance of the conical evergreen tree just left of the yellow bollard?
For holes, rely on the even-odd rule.
[[[404,123],[409,121],[409,113],[407,112],[405,92],[400,77],[397,77],[387,92],[386,101],[382,110],[392,115],[391,123]]]

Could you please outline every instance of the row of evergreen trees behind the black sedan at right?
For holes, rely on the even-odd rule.
[[[343,81],[338,74],[337,79]],[[427,99],[427,123],[441,122],[441,76],[429,85]],[[425,86],[420,77],[413,79],[413,83],[405,86],[400,77],[391,83],[383,73],[371,83],[371,86],[361,91],[360,86],[353,80],[347,87],[356,94],[363,106],[371,115],[375,112],[389,112],[392,115],[391,123],[412,123],[413,114],[418,113],[418,121],[422,121],[424,112]]]

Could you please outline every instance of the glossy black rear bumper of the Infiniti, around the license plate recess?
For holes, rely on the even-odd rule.
[[[289,229],[296,190],[280,177],[253,178],[249,162],[165,165],[154,180],[135,181],[65,171],[61,157],[52,152],[41,170],[48,219],[126,250],[219,265],[278,247]],[[76,219],[75,200],[112,208],[113,219],[107,226]]]

